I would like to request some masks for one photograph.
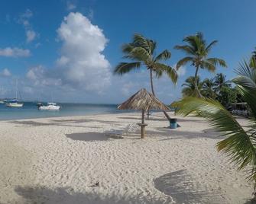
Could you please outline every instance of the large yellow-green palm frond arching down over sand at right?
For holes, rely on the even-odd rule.
[[[180,107],[180,114],[187,116],[190,113],[199,113],[209,121],[210,126],[215,127],[223,136],[228,137],[218,142],[217,148],[231,156],[232,162],[238,164],[239,170],[248,164],[256,164],[256,151],[251,141],[251,135],[245,132],[245,129],[228,110],[225,110],[222,104],[216,100],[196,97],[186,97],[177,104]],[[253,178],[253,176],[251,174],[249,177]]]

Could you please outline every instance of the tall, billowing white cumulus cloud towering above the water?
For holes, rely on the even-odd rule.
[[[111,84],[110,64],[102,51],[108,40],[103,31],[80,13],[70,13],[57,29],[62,43],[56,67],[31,68],[27,78],[35,85],[56,85],[101,93]]]

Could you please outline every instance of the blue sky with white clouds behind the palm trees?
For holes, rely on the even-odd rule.
[[[0,6],[0,98],[118,104],[141,88],[150,91],[145,67],[119,76],[122,44],[134,33],[157,41],[157,53],[169,49],[167,64],[184,56],[174,46],[183,37],[203,32],[218,40],[209,56],[225,59],[218,67],[234,78],[239,62],[256,46],[254,0],[2,0]],[[174,85],[164,75],[154,78],[157,97],[170,104],[181,97],[182,84],[195,69],[183,66]],[[215,73],[199,71],[200,78]]]

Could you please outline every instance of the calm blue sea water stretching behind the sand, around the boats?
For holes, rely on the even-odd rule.
[[[36,103],[24,102],[21,108],[0,104],[0,120],[14,120],[53,116],[81,116],[98,113],[121,113],[116,104],[58,104],[60,110],[37,110]]]

